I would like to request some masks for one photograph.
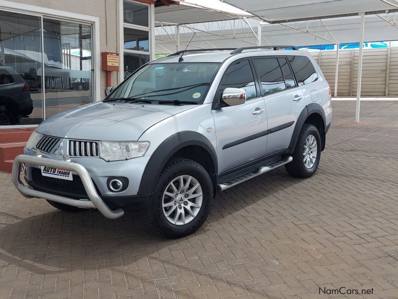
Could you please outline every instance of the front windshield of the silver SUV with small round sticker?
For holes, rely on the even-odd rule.
[[[105,101],[130,98],[150,102],[199,103],[219,63],[148,64],[126,79]]]

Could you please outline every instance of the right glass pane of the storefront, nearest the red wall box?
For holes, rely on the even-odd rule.
[[[45,118],[91,103],[92,28],[43,18]]]

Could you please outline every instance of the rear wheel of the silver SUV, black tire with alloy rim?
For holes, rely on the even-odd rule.
[[[305,178],[313,175],[318,168],[321,152],[321,140],[314,125],[304,124],[293,153],[293,161],[286,164],[288,173]]]

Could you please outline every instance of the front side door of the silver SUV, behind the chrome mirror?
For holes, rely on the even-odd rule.
[[[228,67],[218,94],[227,87],[242,88],[247,100],[237,106],[214,109],[217,138],[218,174],[265,155],[267,147],[267,113],[264,99],[249,60]]]

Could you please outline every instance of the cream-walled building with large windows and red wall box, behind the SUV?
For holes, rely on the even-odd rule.
[[[154,59],[155,6],[176,4],[0,0],[0,131],[102,99]]]

